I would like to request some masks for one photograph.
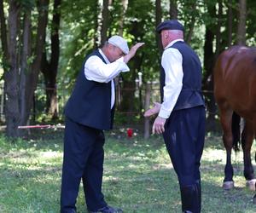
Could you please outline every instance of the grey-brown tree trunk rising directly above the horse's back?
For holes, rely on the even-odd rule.
[[[237,44],[246,44],[246,20],[247,20],[247,1],[239,0],[239,17],[237,27]]]

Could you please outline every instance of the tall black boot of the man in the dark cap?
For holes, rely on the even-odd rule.
[[[183,212],[200,213],[199,192],[195,185],[181,187],[181,199]]]

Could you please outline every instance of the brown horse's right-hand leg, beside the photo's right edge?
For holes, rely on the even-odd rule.
[[[244,170],[243,175],[247,180],[247,187],[255,190],[255,177],[253,173],[253,165],[251,159],[251,147],[253,144],[253,124],[246,121],[244,130],[241,134],[241,147],[243,151]]]

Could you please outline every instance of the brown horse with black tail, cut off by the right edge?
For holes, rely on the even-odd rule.
[[[241,135],[243,174],[247,186],[255,189],[250,152],[256,133],[256,48],[234,46],[218,56],[214,69],[214,96],[227,152],[223,186],[225,189],[234,187],[231,149],[237,150]],[[241,134],[240,116],[245,120]]]

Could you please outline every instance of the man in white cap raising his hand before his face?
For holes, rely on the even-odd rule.
[[[103,130],[113,125],[113,78],[130,71],[126,64],[142,45],[137,43],[129,51],[123,37],[113,36],[84,60],[65,107],[61,213],[76,212],[81,179],[90,212],[122,212],[109,206],[102,194]]]

